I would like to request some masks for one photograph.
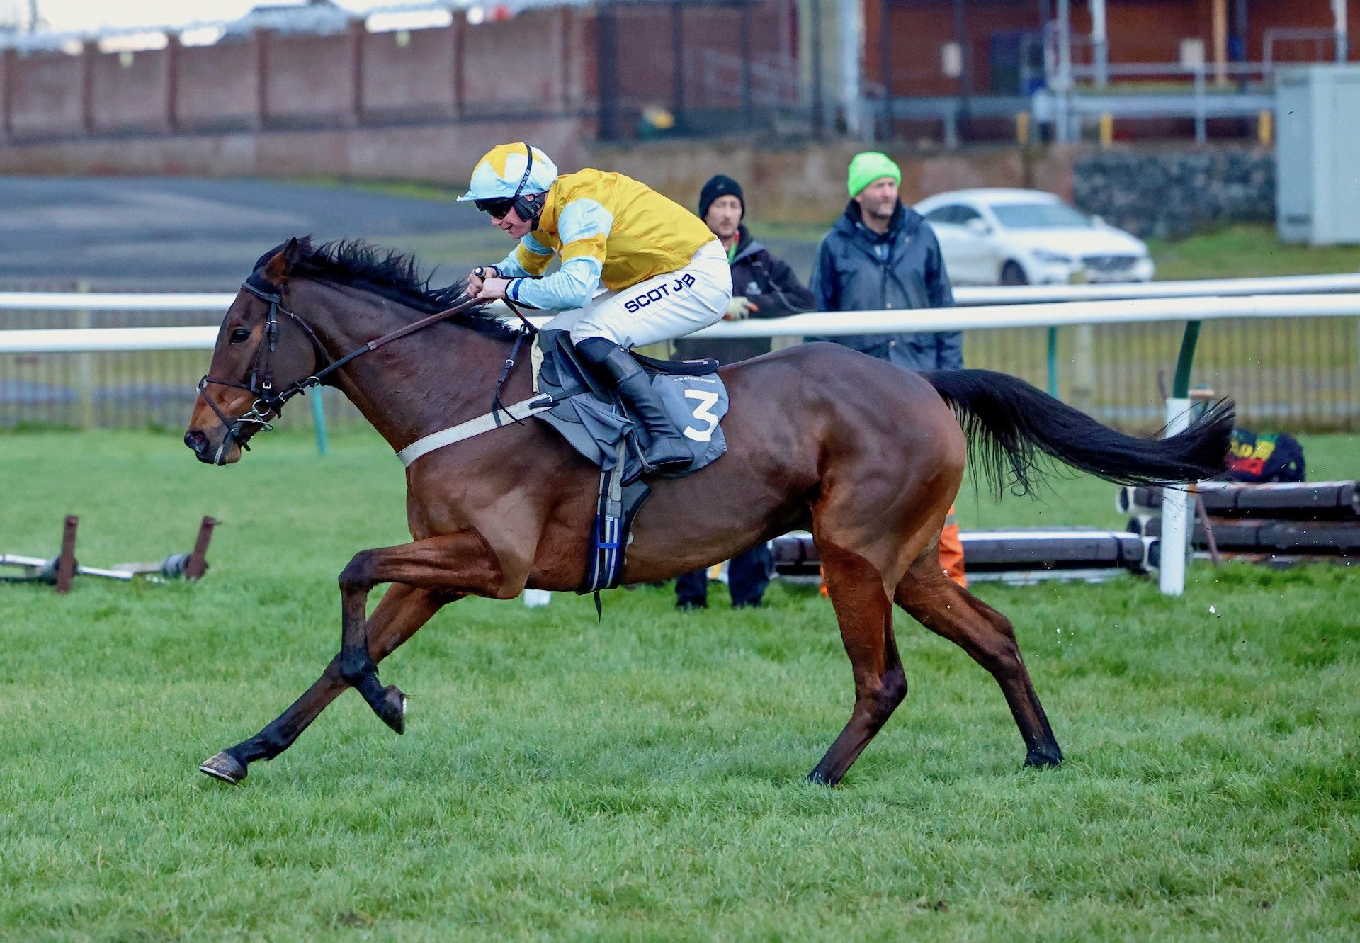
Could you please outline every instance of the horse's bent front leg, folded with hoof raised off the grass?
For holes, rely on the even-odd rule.
[[[405,729],[407,695],[378,680],[369,653],[369,593],[379,582],[404,582],[445,593],[498,596],[505,593],[499,561],[481,535],[472,531],[427,537],[400,547],[363,550],[340,573],[340,676],[388,727]],[[513,593],[518,593],[518,588]]]

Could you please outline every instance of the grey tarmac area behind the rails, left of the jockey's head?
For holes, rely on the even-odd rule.
[[[418,252],[435,280],[500,259],[472,207],[344,185],[169,177],[0,177],[0,287],[226,291],[290,235]]]

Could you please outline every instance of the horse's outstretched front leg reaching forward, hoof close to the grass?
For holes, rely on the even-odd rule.
[[[392,655],[403,642],[430,621],[446,603],[457,596],[447,596],[427,589],[415,589],[403,584],[393,586],[369,616],[369,655],[377,663]],[[273,759],[292,746],[292,742],[307,729],[326,705],[335,701],[350,683],[340,674],[340,656],[330,659],[321,678],[294,701],[292,706],[279,714],[268,727],[223,750],[199,769],[227,782],[246,778],[246,767],[256,759]]]

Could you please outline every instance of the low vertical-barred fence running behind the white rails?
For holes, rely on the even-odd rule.
[[[1259,282],[1253,284],[1259,286]],[[1344,279],[1338,284],[1353,287]],[[1145,288],[1151,291],[1156,286]],[[968,298],[970,291],[978,298]],[[1102,287],[1050,288],[1047,295],[1034,288],[1020,291],[1031,301],[1043,301],[1051,295],[1100,294]],[[1015,294],[1013,288],[960,290],[960,301],[1002,301]],[[1160,302],[1136,303],[1156,306]],[[1186,299],[1179,298],[1175,303],[1185,306]],[[1166,308],[1170,310],[1172,303],[1167,302]],[[900,317],[900,313],[894,314]],[[171,312],[0,306],[0,332],[211,328],[220,317],[220,309],[204,310],[201,305],[197,310]],[[751,322],[751,327],[759,331],[759,324]],[[1153,320],[976,329],[966,333],[964,357],[968,366],[1001,370],[1054,389],[1065,401],[1119,429],[1149,431],[1163,422],[1166,392],[1159,388],[1159,378],[1164,377],[1170,385],[1182,328],[1182,321]],[[178,429],[189,416],[194,384],[207,371],[208,361],[205,350],[0,354],[0,426]],[[1238,400],[1240,419],[1247,426],[1356,431],[1360,429],[1360,317],[1205,321],[1193,382]],[[333,429],[363,425],[358,411],[333,391],[326,411]],[[283,422],[310,427],[311,415],[309,410],[295,408]]]

